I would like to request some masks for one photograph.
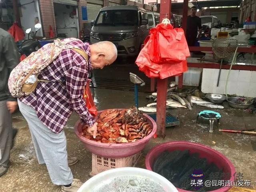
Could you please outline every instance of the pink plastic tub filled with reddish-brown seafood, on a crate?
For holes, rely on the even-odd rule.
[[[99,111],[98,116],[103,111],[104,110]],[[74,130],[78,139],[81,140],[84,143],[84,146],[93,154],[109,157],[109,158],[128,157],[140,152],[156,132],[156,122],[150,116],[146,114],[144,114],[144,116],[148,119],[148,124],[150,124],[153,130],[148,136],[136,142],[107,144],[107,143],[101,143],[101,142],[89,140],[83,137],[82,135],[80,135],[80,132],[82,131],[82,124],[80,121],[76,122]]]

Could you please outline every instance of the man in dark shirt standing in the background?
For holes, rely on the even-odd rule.
[[[187,35],[186,39],[188,46],[194,46],[196,42],[197,31],[199,29],[198,40],[200,40],[202,32],[201,18],[196,16],[196,7],[191,8],[191,15],[188,16],[187,20]]]

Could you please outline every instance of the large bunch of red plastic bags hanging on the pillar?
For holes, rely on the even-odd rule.
[[[186,57],[190,52],[182,29],[158,24],[144,44],[135,63],[146,76],[164,79],[187,71]]]

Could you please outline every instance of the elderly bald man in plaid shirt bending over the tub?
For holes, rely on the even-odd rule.
[[[73,179],[68,167],[76,163],[77,158],[68,159],[63,127],[75,111],[81,121],[89,125],[88,131],[96,134],[97,124],[82,99],[84,86],[92,69],[102,69],[117,57],[112,42],[89,45],[76,40],[70,44],[84,50],[88,62],[72,49],[63,50],[38,75],[39,79],[51,82],[39,82],[32,94],[18,100],[20,112],[28,122],[38,163],[46,164],[52,183],[60,185],[62,192],[76,192],[82,185],[80,180]]]

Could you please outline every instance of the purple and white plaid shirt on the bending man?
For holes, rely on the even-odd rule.
[[[90,46],[80,40],[70,44],[86,51],[89,63],[71,49],[62,51],[38,75],[38,79],[53,82],[38,82],[32,94],[19,99],[34,108],[38,118],[54,133],[61,132],[73,110],[77,112],[83,123],[92,126],[95,122],[82,98],[88,74],[92,69]]]

